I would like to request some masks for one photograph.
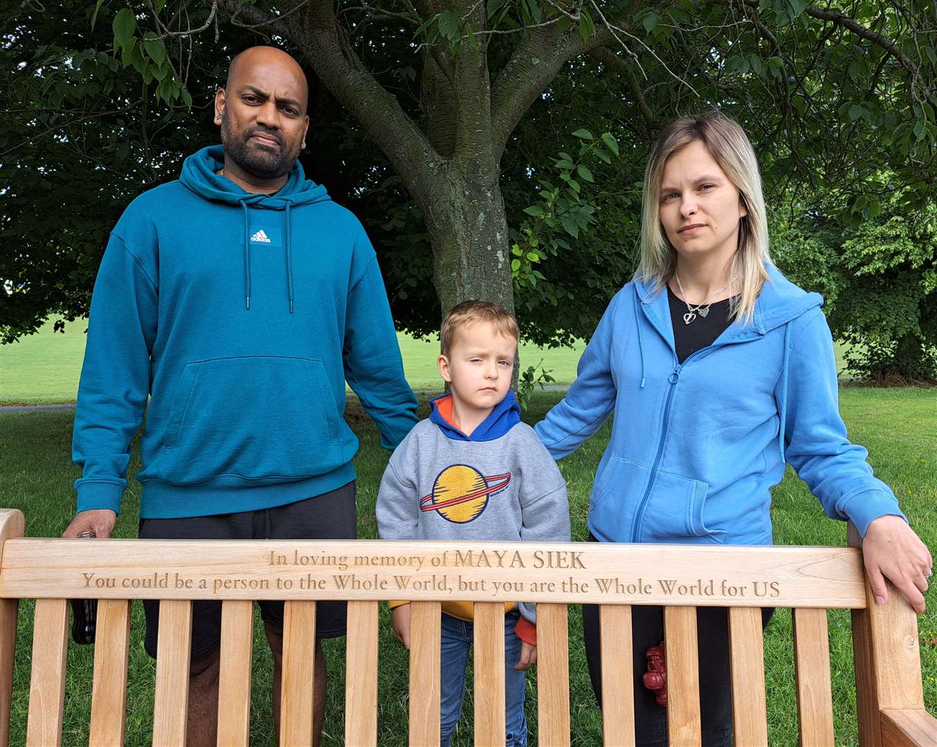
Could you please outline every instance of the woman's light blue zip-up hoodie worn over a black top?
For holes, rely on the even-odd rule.
[[[767,271],[752,322],[682,364],[665,291],[635,280],[609,304],[573,386],[535,429],[560,459],[615,411],[589,497],[599,540],[771,544],[785,461],[863,535],[879,516],[903,517],[846,437],[823,299]]]

